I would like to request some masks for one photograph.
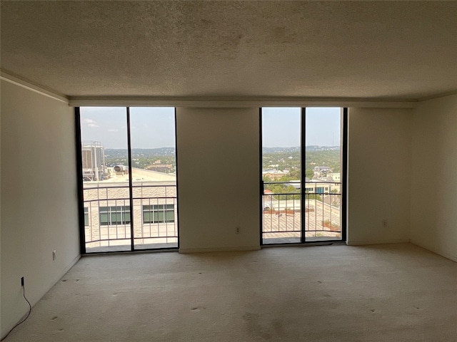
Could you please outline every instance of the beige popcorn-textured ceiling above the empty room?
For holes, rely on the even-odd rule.
[[[457,1],[1,1],[1,68],[69,96],[457,90]]]

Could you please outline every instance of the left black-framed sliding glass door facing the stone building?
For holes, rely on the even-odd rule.
[[[81,252],[178,247],[174,108],[76,108]]]

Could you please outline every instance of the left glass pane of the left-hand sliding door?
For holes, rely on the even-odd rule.
[[[130,250],[125,227],[115,225],[121,217],[114,213],[110,222],[107,214],[108,207],[116,212],[117,203],[129,203],[126,108],[82,107],[80,113],[84,204],[91,217],[86,252]]]

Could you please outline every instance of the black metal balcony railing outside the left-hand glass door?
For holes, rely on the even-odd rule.
[[[128,185],[102,187],[85,183],[86,252],[178,247],[176,184],[134,186],[131,207]]]

